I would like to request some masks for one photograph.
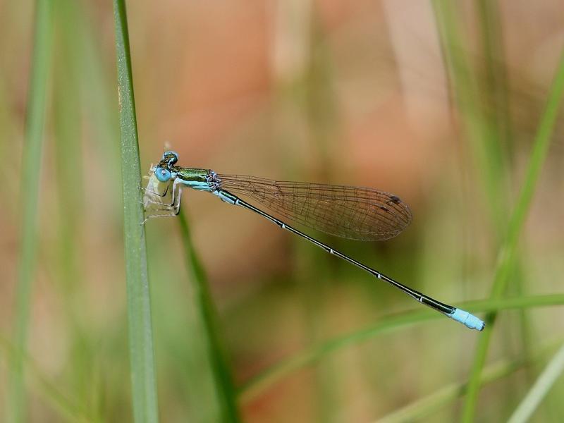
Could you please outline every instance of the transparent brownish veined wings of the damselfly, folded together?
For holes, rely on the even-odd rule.
[[[410,209],[399,197],[373,188],[218,176],[222,189],[250,197],[308,228],[342,238],[386,240],[411,221]]]

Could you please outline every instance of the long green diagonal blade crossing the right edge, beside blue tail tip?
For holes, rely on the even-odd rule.
[[[563,94],[564,54],[560,58],[560,63],[558,63],[556,76],[546,102],[546,109],[544,110],[544,114],[541,116],[539,129],[537,130],[537,135],[534,138],[533,150],[529,159],[529,164],[527,165],[527,173],[525,174],[525,182],[522,185],[515,209],[511,214],[508,224],[508,232],[498,255],[496,276],[494,278],[494,285],[490,295],[492,299],[499,298],[505,291],[508,278],[513,269],[513,265],[515,264],[517,243],[525,223],[525,217],[527,216],[527,212],[529,211],[529,207],[532,202],[534,188],[537,185],[541,168],[544,164],[544,160],[546,159],[546,153],[548,152],[551,134],[556,123],[560,100],[562,99]],[[474,356],[474,364],[472,365],[468,395],[462,415],[465,422],[472,422],[474,419],[480,388],[480,374],[482,373],[482,368],[486,362],[486,355],[491,341],[491,333],[494,329],[496,314],[497,312],[491,312],[487,315],[486,329],[484,329],[484,333],[482,333],[479,337],[476,355]]]

